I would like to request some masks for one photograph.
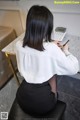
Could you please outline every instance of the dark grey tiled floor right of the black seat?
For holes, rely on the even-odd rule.
[[[80,74],[58,79],[59,99],[67,105],[65,120],[80,120]]]

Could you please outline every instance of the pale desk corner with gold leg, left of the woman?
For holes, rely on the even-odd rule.
[[[24,33],[21,34],[18,38],[16,38],[14,41],[12,41],[10,44],[8,44],[5,48],[2,49],[2,51],[5,53],[6,58],[8,59],[8,62],[10,64],[11,70],[13,72],[14,77],[16,78],[17,84],[20,85],[19,79],[17,77],[14,65],[12,63],[12,60],[10,58],[10,55],[15,55],[15,44],[17,41],[22,40],[24,37]]]

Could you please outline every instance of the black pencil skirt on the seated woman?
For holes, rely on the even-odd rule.
[[[56,104],[55,94],[48,82],[30,84],[25,80],[18,88],[16,98],[24,112],[43,115],[51,111]]]

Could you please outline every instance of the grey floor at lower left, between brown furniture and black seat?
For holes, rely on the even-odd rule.
[[[9,112],[11,104],[15,98],[18,86],[15,79],[11,79],[0,91],[0,112]]]

